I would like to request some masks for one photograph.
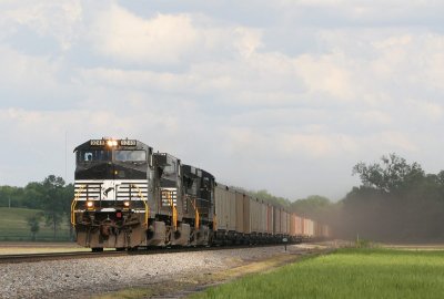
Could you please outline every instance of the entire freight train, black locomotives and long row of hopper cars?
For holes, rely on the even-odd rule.
[[[77,243],[92,251],[296,243],[330,234],[326,225],[222,185],[137,140],[90,140],[74,153],[71,224]]]

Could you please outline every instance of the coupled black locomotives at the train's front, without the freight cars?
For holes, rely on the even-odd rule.
[[[208,245],[214,177],[135,140],[91,140],[74,150],[71,223],[79,245]]]

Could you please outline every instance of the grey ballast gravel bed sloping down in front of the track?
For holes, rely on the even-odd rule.
[[[290,250],[303,250],[289,246]],[[88,298],[264,259],[283,246],[0,265],[0,298]]]

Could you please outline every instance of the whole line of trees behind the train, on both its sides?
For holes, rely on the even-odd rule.
[[[243,190],[254,198],[284,207],[291,213],[329,224],[336,238],[356,237],[375,241],[444,240],[444,171],[426,174],[422,166],[396,154],[379,163],[357,163],[353,169],[361,185],[337,203],[313,195],[297,200],[278,197],[268,190]],[[240,188],[238,188],[240,189]],[[0,207],[39,209],[28,219],[31,233],[40,218],[53,229],[70,218],[74,187],[50,175],[26,187],[0,186]]]

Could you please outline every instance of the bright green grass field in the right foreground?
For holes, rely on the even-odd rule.
[[[341,249],[191,298],[443,298],[444,251]]]

